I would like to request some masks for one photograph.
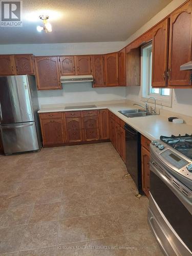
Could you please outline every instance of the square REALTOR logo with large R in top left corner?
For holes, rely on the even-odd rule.
[[[1,1],[1,27],[22,27],[22,1]]]

